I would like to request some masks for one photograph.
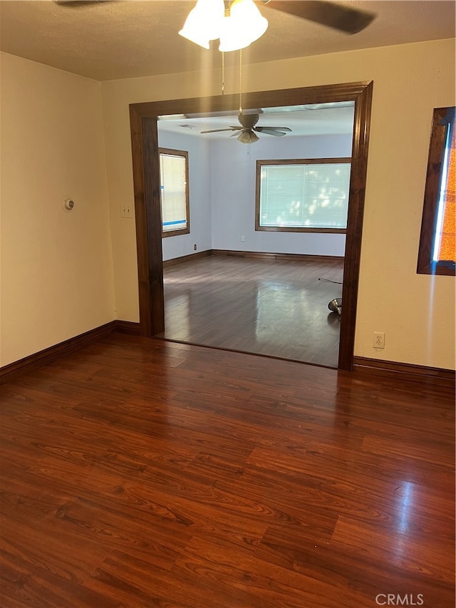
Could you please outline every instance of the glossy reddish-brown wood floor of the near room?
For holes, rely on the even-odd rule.
[[[2,608],[454,606],[450,388],[113,334],[1,390]]]

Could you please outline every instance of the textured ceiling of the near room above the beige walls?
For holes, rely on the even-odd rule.
[[[298,1],[298,0],[296,0]],[[0,1],[0,49],[49,66],[105,81],[198,70],[219,62],[177,34],[195,1],[120,0],[82,8],[52,0]],[[267,6],[269,29],[244,51],[245,63],[334,53],[455,36],[455,2],[341,1],[377,19],[349,36]],[[236,53],[227,53],[227,66]]]

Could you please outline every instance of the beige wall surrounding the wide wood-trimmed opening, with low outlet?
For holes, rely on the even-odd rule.
[[[245,90],[374,81],[356,356],[455,367],[455,279],[415,272],[432,108],[455,105],[455,41],[431,41],[262,63]],[[212,76],[211,76],[212,74]],[[227,76],[227,92],[237,92]],[[218,95],[217,71],[102,83],[118,318],[138,321],[128,104]],[[252,202],[253,205],[253,202]],[[384,331],[385,349],[373,349]]]

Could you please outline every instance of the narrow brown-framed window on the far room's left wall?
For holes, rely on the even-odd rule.
[[[160,148],[162,237],[190,232],[188,152]]]

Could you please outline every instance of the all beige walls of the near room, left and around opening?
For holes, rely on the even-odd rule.
[[[455,367],[455,279],[415,272],[432,108],[455,105],[454,51],[432,41],[244,68],[250,91],[374,81],[357,356]],[[219,83],[202,71],[100,84],[2,53],[1,365],[138,321],[135,225],[120,218],[133,202],[128,104],[217,95]]]

